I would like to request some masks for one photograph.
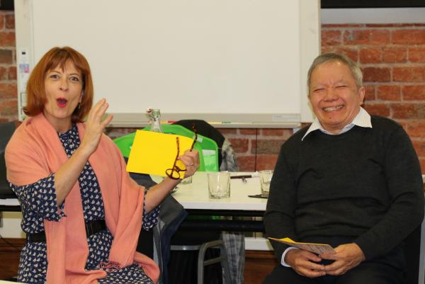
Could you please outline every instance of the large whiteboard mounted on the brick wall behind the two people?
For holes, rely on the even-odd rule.
[[[174,120],[305,122],[318,2],[16,0],[18,64],[21,50],[30,69],[51,47],[79,50],[114,120],[152,107]]]

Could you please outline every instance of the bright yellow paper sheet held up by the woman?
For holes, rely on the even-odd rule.
[[[181,135],[172,135],[145,130],[137,130],[135,140],[128,157],[127,171],[140,174],[166,176],[165,171],[171,169],[176,159],[177,142],[179,137],[181,156],[191,149],[193,140]],[[178,160],[177,166],[186,169],[183,162]],[[184,172],[181,172],[183,177]]]

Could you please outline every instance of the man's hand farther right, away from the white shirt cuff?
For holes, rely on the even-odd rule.
[[[321,254],[320,257],[334,260],[333,263],[324,266],[324,271],[333,276],[342,275],[365,260],[363,251],[357,244],[341,244],[336,246],[334,254]]]

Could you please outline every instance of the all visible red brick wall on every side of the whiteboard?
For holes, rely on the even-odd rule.
[[[16,52],[13,11],[0,11],[0,122],[16,120]],[[425,24],[323,25],[322,52],[342,52],[359,64],[365,108],[401,123],[425,173]],[[111,137],[134,129],[109,129]],[[273,169],[281,129],[220,129],[232,142],[241,171]]]

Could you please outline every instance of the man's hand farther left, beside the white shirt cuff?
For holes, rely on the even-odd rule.
[[[296,273],[302,276],[315,278],[326,274],[324,272],[324,266],[316,263],[322,261],[322,259],[310,251],[305,251],[303,249],[291,249],[285,255],[284,260],[285,263],[288,263],[288,265],[290,265]]]

